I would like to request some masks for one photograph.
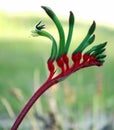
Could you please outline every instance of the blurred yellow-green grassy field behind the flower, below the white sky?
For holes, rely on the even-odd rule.
[[[46,24],[46,30],[58,40],[57,30],[48,17],[41,14],[0,13],[0,130],[10,128],[24,104],[48,76],[46,62],[50,56],[51,41],[43,37],[31,36],[31,31],[40,19]],[[60,18],[60,20],[67,34],[68,19]],[[91,24],[92,21],[76,19],[69,55],[79,45]],[[90,124],[95,128],[98,126],[100,117],[104,126],[108,124],[109,119],[112,121],[112,115],[114,115],[114,26],[102,26],[97,23],[95,34],[94,44],[108,41],[104,65],[80,70],[50,88],[28,114],[29,122],[33,119],[37,122],[36,124],[42,122],[36,118],[34,114],[36,112],[46,119],[49,118],[49,113],[53,113],[59,124],[58,129],[65,129],[65,123],[68,124],[68,122],[70,127],[72,123],[87,120],[92,121],[93,123]],[[27,119],[24,121],[25,124]],[[6,121],[7,125],[4,125],[2,121]],[[25,130],[24,123],[23,128],[20,129]],[[31,123],[26,129],[35,129],[39,126],[43,126],[43,123],[38,126]],[[75,130],[75,127],[72,129]],[[83,127],[80,127],[81,129]]]

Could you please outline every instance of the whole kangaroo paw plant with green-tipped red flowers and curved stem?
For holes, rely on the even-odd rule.
[[[106,57],[103,52],[105,51],[107,42],[95,45],[88,51],[84,52],[85,48],[87,48],[95,40],[95,35],[93,33],[96,28],[96,23],[93,21],[87,32],[87,35],[80,45],[74,50],[70,58],[68,56],[68,51],[74,28],[75,19],[73,13],[70,11],[68,36],[65,41],[64,30],[56,14],[49,7],[42,6],[42,8],[46,11],[48,16],[52,19],[57,27],[59,33],[59,48],[54,37],[50,33],[44,31],[45,25],[41,24],[41,21],[38,22],[38,24],[35,26],[35,30],[33,31],[33,36],[47,37],[52,41],[51,55],[47,61],[49,76],[44,84],[33,94],[28,103],[22,109],[11,130],[16,130],[19,127],[27,112],[47,89],[54,84],[63,81],[77,70],[90,66],[102,66],[104,63],[104,58]],[[72,60],[72,65],[69,64],[69,60]],[[57,67],[60,68],[59,73],[57,73]]]

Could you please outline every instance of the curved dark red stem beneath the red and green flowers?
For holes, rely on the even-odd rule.
[[[75,60],[75,59],[74,59]],[[62,62],[59,62],[62,63]],[[61,64],[59,64],[61,67]],[[88,62],[82,62],[81,64],[79,64],[77,66],[77,64],[73,64],[68,70],[66,70],[64,72],[63,68],[62,72],[60,74],[58,74],[56,77],[52,78],[54,73],[51,74],[51,77],[49,76],[49,78],[47,79],[47,81],[33,94],[33,96],[30,98],[30,100],[27,102],[27,104],[24,106],[24,108],[22,109],[22,111],[20,112],[20,114],[18,115],[16,121],[14,122],[12,128],[10,130],[17,130],[17,128],[19,127],[19,125],[21,124],[22,120],[24,119],[24,117],[26,116],[26,114],[28,113],[28,111],[30,110],[30,108],[33,106],[33,104],[37,101],[37,99],[48,89],[50,88],[52,85],[64,80],[65,77],[69,76],[70,74],[72,74],[73,72],[81,69],[81,68],[85,68],[85,67],[89,67],[89,66],[101,66],[102,63],[98,62],[95,60],[94,57],[91,57],[91,60]],[[63,63],[62,63],[62,67],[63,67]]]

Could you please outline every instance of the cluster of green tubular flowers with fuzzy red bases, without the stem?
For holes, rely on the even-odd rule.
[[[57,48],[57,43],[54,37],[50,33],[43,30],[45,28],[45,25],[41,25],[41,21],[38,22],[38,24],[35,27],[34,34],[36,36],[40,35],[48,37],[50,40],[52,40],[51,56],[47,61],[48,69],[50,71],[49,79],[51,79],[54,76],[54,73],[56,71],[54,62],[56,62],[57,66],[61,69],[61,73],[59,74],[59,80],[69,76],[70,74],[74,73],[75,71],[81,68],[103,65],[104,58],[106,57],[106,55],[103,54],[103,52],[105,51],[105,46],[107,42],[93,46],[90,50],[83,53],[85,48],[88,47],[90,44],[92,44],[95,40],[95,34],[94,34],[96,28],[95,21],[93,21],[92,25],[90,26],[87,32],[87,35],[82,40],[80,45],[72,53],[71,59],[73,63],[72,65],[69,65],[68,50],[71,44],[73,34],[74,20],[75,20],[74,15],[70,11],[68,36],[65,41],[64,30],[56,14],[49,7],[42,6],[42,8],[46,11],[48,16],[55,23],[58,29],[60,39],[59,48]]]

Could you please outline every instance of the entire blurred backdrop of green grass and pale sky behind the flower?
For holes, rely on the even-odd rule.
[[[0,0],[0,130],[9,130],[25,103],[46,80],[51,41],[32,37],[39,20],[57,40],[55,25],[41,5],[51,7],[68,31],[75,28],[69,55],[97,23],[94,44],[108,41],[106,62],[71,75],[36,102],[19,130],[114,130],[113,0]]]

